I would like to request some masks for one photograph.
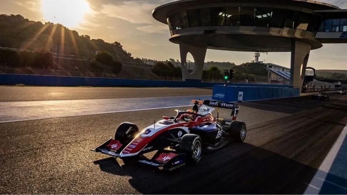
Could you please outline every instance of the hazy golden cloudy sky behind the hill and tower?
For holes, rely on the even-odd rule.
[[[0,14],[20,14],[29,20],[61,23],[80,35],[120,42],[133,57],[180,59],[179,46],[169,41],[167,25],[152,17],[152,10],[175,0],[1,0]],[[320,0],[347,9],[346,0]],[[58,2],[58,3],[57,3]],[[53,21],[52,21],[53,20]],[[308,66],[347,70],[347,44],[324,44],[312,50]],[[188,54],[188,60],[193,60]],[[205,61],[237,65],[254,60],[252,52],[208,50]],[[290,53],[262,54],[260,60],[290,67]]]

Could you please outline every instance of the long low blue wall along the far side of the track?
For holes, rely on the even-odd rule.
[[[0,74],[0,85],[41,85],[41,86],[129,86],[129,87],[213,87],[223,83],[207,83],[201,80],[173,81],[173,80],[142,80],[121,78],[98,78],[98,77],[72,77],[50,75],[20,75]],[[281,86],[266,84],[233,84],[235,86]]]

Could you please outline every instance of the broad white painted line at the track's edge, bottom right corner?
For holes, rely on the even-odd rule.
[[[328,155],[325,156],[324,161],[322,162],[321,166],[319,167],[316,174],[312,178],[311,183],[307,184],[308,186],[304,194],[319,194],[324,182],[330,183],[342,189],[346,189],[345,187],[339,186],[335,183],[332,183],[331,181],[325,181],[330,171],[330,168],[332,166],[332,163],[334,162],[336,155],[339,152],[340,147],[346,138],[346,135],[347,135],[347,125],[340,133],[334,145],[331,147]]]

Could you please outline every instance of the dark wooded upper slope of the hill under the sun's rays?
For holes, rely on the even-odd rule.
[[[29,51],[45,49],[86,60],[92,59],[96,51],[107,51],[120,62],[136,62],[117,41],[107,43],[102,39],[91,39],[60,24],[43,24],[21,15],[0,15],[0,47]]]

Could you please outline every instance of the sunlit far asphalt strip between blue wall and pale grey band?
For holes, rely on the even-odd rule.
[[[211,95],[203,88],[0,87],[0,102]]]

